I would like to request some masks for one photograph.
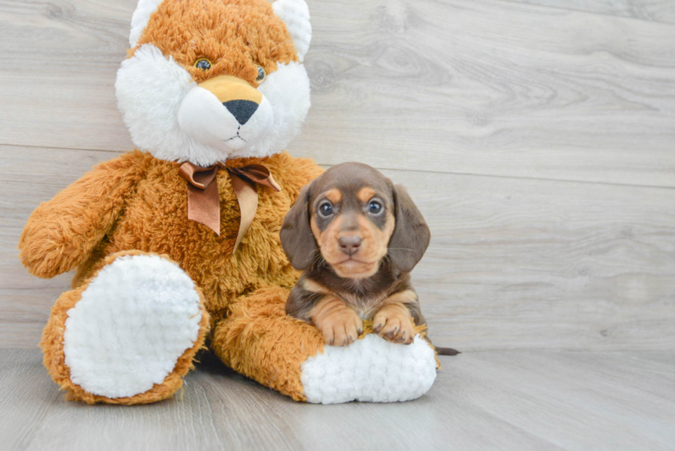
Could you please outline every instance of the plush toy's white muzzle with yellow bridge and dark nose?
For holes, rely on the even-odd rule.
[[[193,87],[178,109],[180,129],[227,154],[256,143],[273,123],[267,98],[233,76],[217,76]]]

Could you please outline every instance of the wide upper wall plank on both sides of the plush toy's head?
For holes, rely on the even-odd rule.
[[[0,1],[0,104],[21,105],[0,110],[1,143],[132,147],[113,84],[134,3]],[[294,154],[675,186],[675,25],[500,0],[309,3],[313,109]]]

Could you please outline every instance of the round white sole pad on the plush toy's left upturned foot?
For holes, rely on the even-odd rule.
[[[160,384],[194,346],[202,312],[194,282],[158,255],[105,266],[65,320],[70,380],[87,392],[130,397]]]

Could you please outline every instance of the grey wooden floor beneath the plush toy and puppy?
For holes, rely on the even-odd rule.
[[[37,350],[0,350],[7,450],[667,450],[672,353],[468,353],[395,404],[295,403],[209,356],[183,397],[149,406],[63,400]]]

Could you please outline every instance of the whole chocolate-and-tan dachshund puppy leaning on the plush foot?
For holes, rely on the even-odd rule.
[[[331,167],[300,191],[284,219],[281,244],[303,270],[286,311],[312,322],[327,344],[346,346],[373,319],[375,332],[411,344],[425,320],[410,272],[429,228],[400,186],[370,166]]]

